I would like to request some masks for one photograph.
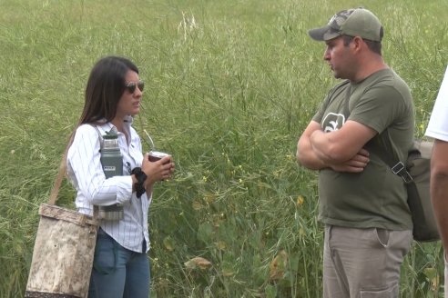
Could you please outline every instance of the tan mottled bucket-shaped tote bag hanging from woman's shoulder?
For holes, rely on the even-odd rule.
[[[97,243],[97,208],[92,217],[56,206],[65,173],[66,154],[50,199],[39,208],[25,297],[87,298]]]

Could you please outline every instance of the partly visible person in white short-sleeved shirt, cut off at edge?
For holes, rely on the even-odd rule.
[[[435,100],[426,135],[434,138],[431,158],[431,200],[445,252],[448,250],[448,67]],[[445,297],[448,297],[448,263],[445,253]]]

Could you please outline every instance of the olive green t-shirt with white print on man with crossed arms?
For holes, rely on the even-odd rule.
[[[391,69],[378,71],[357,84],[344,81],[331,89],[313,120],[324,132],[338,130],[348,120],[378,132],[364,145],[370,163],[362,173],[340,173],[330,168],[320,171],[321,222],[355,228],[412,229],[402,178],[393,174],[377,154],[395,150],[403,162],[406,160],[414,129],[408,85]]]

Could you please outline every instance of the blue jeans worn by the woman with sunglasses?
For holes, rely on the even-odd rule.
[[[148,298],[149,260],[98,230],[88,298]]]

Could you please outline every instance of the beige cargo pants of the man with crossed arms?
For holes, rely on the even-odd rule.
[[[398,298],[412,231],[325,226],[323,298]]]

